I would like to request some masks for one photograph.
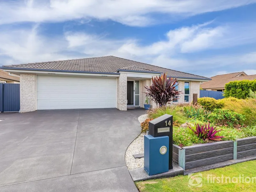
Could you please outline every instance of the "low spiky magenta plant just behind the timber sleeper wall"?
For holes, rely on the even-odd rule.
[[[198,138],[205,140],[213,140],[213,141],[221,141],[221,138],[224,136],[217,136],[216,133],[220,132],[220,130],[217,130],[217,127],[210,126],[209,124],[196,124],[196,129],[193,129],[192,127],[188,126],[189,129],[191,129]]]

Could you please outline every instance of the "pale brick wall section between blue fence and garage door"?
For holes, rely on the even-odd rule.
[[[36,110],[36,75],[20,74],[20,113]]]

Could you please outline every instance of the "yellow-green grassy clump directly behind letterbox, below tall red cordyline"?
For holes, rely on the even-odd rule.
[[[177,121],[179,124],[186,123],[188,118],[185,116],[183,112],[183,108],[176,106],[163,106],[158,108],[153,108],[148,110],[148,117],[151,119],[155,119],[164,114],[169,114],[173,116],[173,121]]]

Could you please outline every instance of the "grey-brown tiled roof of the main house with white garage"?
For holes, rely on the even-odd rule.
[[[20,65],[3,66],[8,68],[23,68],[23,69],[55,69],[55,70],[69,70],[69,71],[90,71],[90,72],[109,72],[116,73],[118,69],[156,71],[166,73],[172,77],[208,79],[203,76],[175,71],[172,69],[162,68],[146,63],[141,63],[133,60],[123,59],[115,56],[93,57],[84,59],[49,61],[41,63],[28,63]],[[130,69],[129,69],[130,68]],[[141,70],[140,70],[141,71]]]

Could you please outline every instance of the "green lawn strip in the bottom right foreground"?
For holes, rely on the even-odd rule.
[[[202,177],[201,177],[201,174],[202,174]],[[145,192],[145,191],[150,191],[150,192],[151,191],[152,192],[164,192],[164,191],[171,191],[171,192],[174,192],[174,191],[182,191],[182,192],[183,191],[184,192],[187,192],[187,191],[200,191],[200,192],[246,191],[246,192],[249,192],[249,191],[253,191],[254,192],[256,191],[256,160],[233,164],[230,166],[226,166],[218,169],[212,169],[209,171],[198,172],[198,173],[195,173],[194,175],[192,174],[191,178],[192,179],[190,179],[190,182],[189,182],[189,177],[187,175],[182,175],[182,176],[176,176],[176,177],[167,178],[167,179],[139,181],[139,182],[135,182],[135,184],[140,192]],[[194,182],[193,182],[193,179],[194,179]],[[229,180],[231,180],[231,182],[229,182]],[[189,187],[188,182],[193,186],[190,185]],[[195,187],[197,186],[197,184],[200,186],[200,183],[202,184],[202,187]]]

